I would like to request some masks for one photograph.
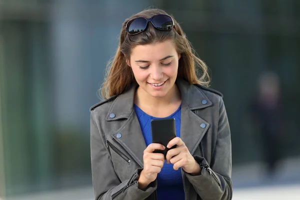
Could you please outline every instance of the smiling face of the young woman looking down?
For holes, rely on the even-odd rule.
[[[163,97],[174,86],[179,58],[173,42],[166,40],[135,46],[128,65],[140,89],[153,97]]]

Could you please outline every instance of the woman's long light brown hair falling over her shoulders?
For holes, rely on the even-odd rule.
[[[176,51],[181,54],[178,61],[177,77],[187,80],[190,84],[201,84],[208,86],[210,78],[206,64],[196,56],[190,42],[185,37],[178,22],[172,17],[175,28],[170,31],[158,30],[148,23],[147,29],[136,35],[125,36],[126,23],[136,17],[150,18],[156,14],[167,14],[161,9],[145,9],[127,18],[121,28],[119,45],[114,57],[108,62],[105,79],[102,84],[101,95],[108,98],[119,95],[128,89],[132,82],[136,82],[131,67],[127,65],[126,59],[130,59],[130,53],[134,46],[162,42],[171,39]]]

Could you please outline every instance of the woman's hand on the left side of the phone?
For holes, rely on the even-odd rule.
[[[156,179],[157,173],[160,172],[164,164],[164,155],[153,153],[153,151],[155,149],[164,150],[164,148],[162,144],[151,143],[143,151],[143,169],[138,178],[138,188],[144,189]]]

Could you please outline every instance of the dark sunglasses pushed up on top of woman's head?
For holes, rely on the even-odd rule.
[[[152,25],[159,30],[168,31],[174,27],[174,21],[170,16],[166,14],[158,14],[151,18],[137,17],[131,19],[126,23],[125,30],[129,35],[138,34],[146,29],[149,21],[151,21]]]

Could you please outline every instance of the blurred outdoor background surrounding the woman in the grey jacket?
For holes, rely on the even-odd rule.
[[[125,18],[181,24],[221,91],[233,199],[300,199],[299,0],[0,0],[0,199],[92,199],[89,107]]]

